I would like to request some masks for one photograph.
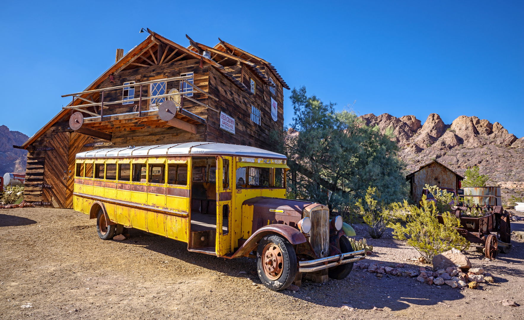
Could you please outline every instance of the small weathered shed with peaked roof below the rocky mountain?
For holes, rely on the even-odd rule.
[[[406,181],[409,181],[411,185],[411,200],[417,204],[422,200],[422,193],[426,184],[436,185],[442,189],[450,188],[458,194],[463,179],[462,175],[436,160],[426,163],[419,170],[406,175]]]

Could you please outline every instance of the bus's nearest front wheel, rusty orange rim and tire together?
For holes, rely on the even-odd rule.
[[[266,236],[258,244],[257,272],[271,290],[286,289],[297,274],[297,256],[293,246],[279,235]]]

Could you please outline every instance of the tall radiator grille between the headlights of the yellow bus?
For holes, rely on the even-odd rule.
[[[317,209],[318,208],[318,209]],[[324,206],[325,208],[325,206]],[[311,219],[309,242],[319,258],[329,256],[329,210],[316,207],[311,212],[304,211],[304,217]]]

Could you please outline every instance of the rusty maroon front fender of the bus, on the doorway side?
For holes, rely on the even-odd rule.
[[[231,258],[243,257],[249,255],[258,245],[258,241],[268,235],[281,235],[286,238],[292,245],[298,245],[306,241],[304,235],[297,229],[283,224],[272,224],[261,227],[256,230],[244,244],[233,253]]]

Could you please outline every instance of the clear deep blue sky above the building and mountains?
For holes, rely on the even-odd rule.
[[[524,136],[524,2],[5,2],[0,125],[29,136],[148,27],[181,45],[220,37],[271,62],[290,87],[359,114],[438,113]],[[292,108],[285,90],[285,123]]]

